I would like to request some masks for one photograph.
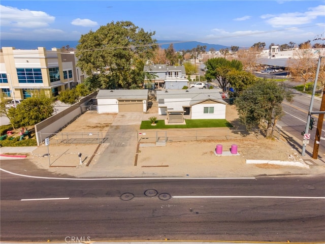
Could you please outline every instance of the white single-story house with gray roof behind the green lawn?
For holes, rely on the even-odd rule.
[[[157,90],[156,96],[158,114],[167,115],[173,123],[183,123],[184,115],[191,119],[224,119],[228,104],[219,89]]]

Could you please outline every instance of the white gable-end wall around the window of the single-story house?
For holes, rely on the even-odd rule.
[[[204,107],[214,107],[214,113],[203,113]],[[192,106],[191,119],[203,119],[203,118],[224,119],[225,108],[226,108],[225,104],[221,104],[221,103],[197,104]]]

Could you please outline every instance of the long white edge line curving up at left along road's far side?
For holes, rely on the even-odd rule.
[[[129,177],[129,178],[58,178],[58,177],[42,177],[42,176],[31,176],[25,174],[17,174],[5,169],[0,168],[0,171],[4,171],[8,174],[37,179],[62,179],[62,180],[130,180],[130,179],[254,179],[255,177],[232,177],[232,178],[218,178],[218,177]]]

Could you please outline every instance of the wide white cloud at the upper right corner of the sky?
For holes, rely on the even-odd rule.
[[[309,8],[306,12],[283,13],[279,15],[262,15],[262,19],[273,27],[301,25],[311,23],[319,16],[325,16],[325,5]]]

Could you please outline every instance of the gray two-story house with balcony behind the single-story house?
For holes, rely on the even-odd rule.
[[[148,89],[182,89],[188,86],[184,66],[150,65],[143,68],[149,73],[144,80]]]

